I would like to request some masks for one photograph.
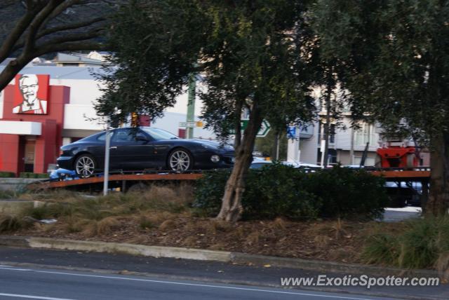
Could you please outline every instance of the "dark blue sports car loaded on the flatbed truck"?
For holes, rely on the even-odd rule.
[[[204,139],[180,139],[152,127],[111,130],[110,170],[203,170],[232,168],[234,148]],[[61,147],[58,166],[80,177],[101,172],[105,165],[106,132]]]

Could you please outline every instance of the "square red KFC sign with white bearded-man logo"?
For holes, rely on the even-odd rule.
[[[15,76],[14,114],[47,114],[49,75]]]

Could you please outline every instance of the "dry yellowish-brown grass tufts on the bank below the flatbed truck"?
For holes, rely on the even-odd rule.
[[[27,228],[29,219],[58,219],[65,222],[67,233],[85,232],[88,236],[105,235],[120,225],[120,217],[138,217],[142,229],[173,228],[173,214],[189,213],[193,199],[187,184],[158,186],[146,191],[111,193],[108,196],[84,196],[72,191],[22,194],[23,200],[45,204],[23,210],[18,216],[0,216],[0,232]]]

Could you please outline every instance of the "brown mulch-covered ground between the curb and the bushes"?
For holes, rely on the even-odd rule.
[[[144,218],[144,219],[142,219]],[[32,229],[16,231],[16,236],[41,236],[73,240],[162,245],[209,250],[227,250],[277,257],[297,257],[360,262],[363,239],[375,222],[347,221],[291,222],[241,221],[228,224],[213,219],[192,217],[188,213],[163,213],[159,221],[145,217],[118,217],[69,233],[70,221],[35,224]],[[159,224],[158,224],[159,223]]]

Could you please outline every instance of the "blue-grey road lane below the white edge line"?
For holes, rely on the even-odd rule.
[[[11,266],[0,266],[0,282],[0,299],[381,299],[293,289],[219,285]]]

